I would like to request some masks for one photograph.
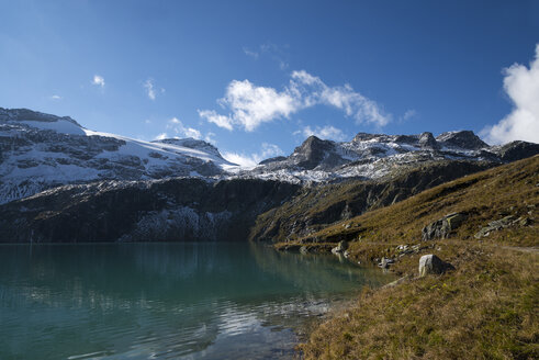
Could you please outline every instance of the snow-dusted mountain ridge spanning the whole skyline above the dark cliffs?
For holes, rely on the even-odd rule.
[[[218,149],[193,138],[143,142],[90,131],[68,116],[0,108],[0,204],[63,184],[98,180],[176,177],[262,179],[292,183],[379,179],[427,161],[507,162],[539,153],[538,144],[489,146],[472,132],[434,137],[357,134],[351,142],[308,137],[288,157],[254,169],[224,159]]]

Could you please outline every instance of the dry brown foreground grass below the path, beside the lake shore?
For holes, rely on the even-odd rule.
[[[469,245],[452,261],[453,272],[364,291],[312,334],[305,359],[538,359],[538,255]]]

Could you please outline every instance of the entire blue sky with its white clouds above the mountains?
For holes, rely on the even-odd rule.
[[[539,136],[538,1],[0,0],[0,106],[96,131],[206,138],[243,161],[308,134]]]

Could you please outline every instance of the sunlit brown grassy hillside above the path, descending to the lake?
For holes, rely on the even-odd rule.
[[[531,218],[534,226],[493,233],[498,244],[536,246],[539,230],[539,156],[501,166],[424,191],[394,205],[368,212],[350,221],[326,227],[311,236],[324,243],[355,239],[362,243],[418,243],[428,223],[451,212],[469,214],[453,237],[472,239],[489,222],[505,215]],[[349,229],[344,226],[350,224]]]

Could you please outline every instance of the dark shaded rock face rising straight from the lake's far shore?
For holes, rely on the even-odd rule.
[[[299,187],[200,179],[66,185],[0,206],[0,243],[244,240]]]

